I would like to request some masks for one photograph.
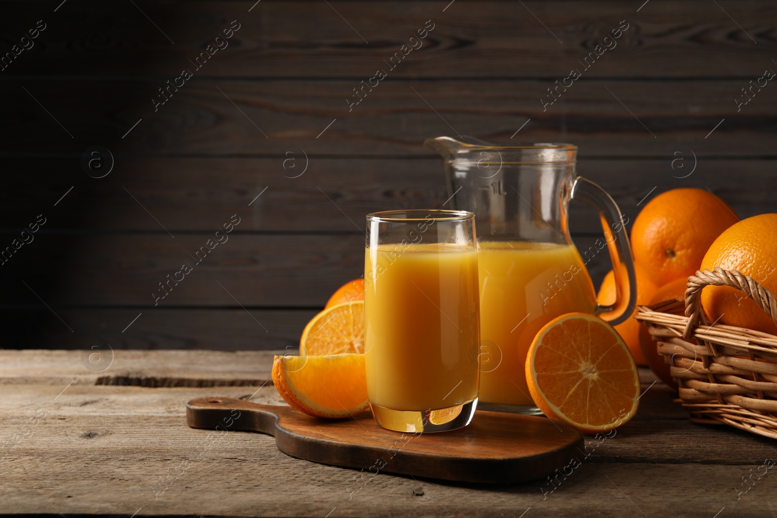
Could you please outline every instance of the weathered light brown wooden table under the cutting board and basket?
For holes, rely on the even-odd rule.
[[[267,351],[120,350],[99,373],[83,354],[0,351],[0,513],[777,515],[775,442],[688,422],[671,389],[644,369],[636,417],[604,440],[587,436],[582,464],[553,490],[547,479],[478,487],[363,477],[288,457],[270,436],[186,426],[192,398],[282,404]]]

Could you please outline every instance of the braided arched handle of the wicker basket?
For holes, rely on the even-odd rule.
[[[702,311],[702,289],[705,286],[729,286],[744,291],[759,308],[772,316],[772,320],[777,325],[777,300],[771,291],[762,287],[751,276],[739,273],[735,269],[716,266],[711,272],[709,269],[703,272],[698,270],[695,276],[688,277],[688,288],[685,290],[685,316],[688,317],[688,323],[685,325],[683,338],[688,339],[691,336],[695,325],[699,323],[709,325]]]

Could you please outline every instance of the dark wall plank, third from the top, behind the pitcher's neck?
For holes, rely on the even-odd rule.
[[[653,159],[583,158],[577,172],[611,194],[629,228],[653,196],[685,186],[710,189],[743,218],[774,210],[770,195],[777,189],[774,160],[694,159],[690,148],[677,151],[678,155]],[[5,158],[4,162],[12,170],[23,171],[30,168],[31,160]],[[242,218],[238,232],[356,234],[364,228],[365,214],[443,208],[450,196],[442,159],[432,156],[308,156],[307,162],[299,150],[276,158],[117,156],[117,170],[99,180],[80,172],[80,158],[64,160],[35,158],[34,174],[4,179],[0,217],[9,240],[14,228],[25,227],[41,212],[48,216],[37,237],[41,242],[54,229],[163,232],[162,223],[173,234],[215,231],[232,214]],[[308,169],[301,174],[306,163]],[[67,174],[62,174],[62,167]],[[51,207],[74,183],[68,196]],[[40,200],[38,207],[31,206],[33,199]],[[584,203],[570,203],[570,228],[575,234],[601,233],[598,218]]]

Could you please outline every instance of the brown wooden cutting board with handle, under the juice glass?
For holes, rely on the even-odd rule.
[[[573,426],[545,417],[478,410],[469,426],[441,433],[382,429],[370,412],[353,419],[318,419],[294,408],[235,398],[186,404],[192,428],[275,436],[292,457],[364,470],[444,480],[514,484],[561,471],[583,451]]]

